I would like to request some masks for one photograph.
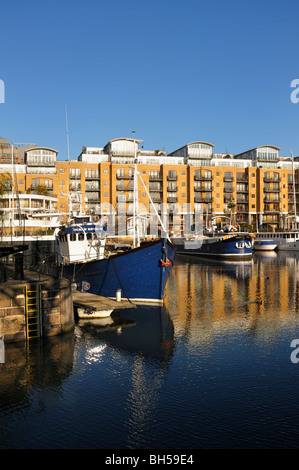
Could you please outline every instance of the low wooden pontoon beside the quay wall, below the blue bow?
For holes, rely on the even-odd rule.
[[[123,308],[135,308],[136,305],[128,300],[108,299],[100,295],[90,294],[89,292],[72,291],[73,305],[79,308],[88,308],[91,310],[119,310]]]

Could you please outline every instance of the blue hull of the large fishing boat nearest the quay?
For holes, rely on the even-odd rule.
[[[132,302],[161,304],[173,260],[173,246],[160,239],[108,259],[65,265],[61,275],[80,291],[115,299],[121,290]]]

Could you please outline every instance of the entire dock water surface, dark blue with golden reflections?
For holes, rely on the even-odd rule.
[[[163,308],[6,345],[0,448],[298,447],[298,268],[177,258]]]

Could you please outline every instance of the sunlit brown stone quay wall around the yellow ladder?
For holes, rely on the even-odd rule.
[[[28,291],[37,286],[40,291],[41,336],[56,336],[73,330],[72,294],[65,279],[10,281],[0,285],[0,339],[4,343],[26,341]]]

